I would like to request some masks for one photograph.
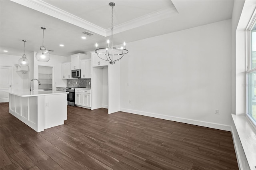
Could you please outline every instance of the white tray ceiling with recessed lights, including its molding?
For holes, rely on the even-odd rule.
[[[38,51],[70,56],[106,45],[111,35],[113,7],[114,45],[176,32],[230,19],[234,0],[0,0],[0,50],[10,55]],[[82,32],[91,32],[87,36]],[[86,40],[81,39],[86,36]],[[64,44],[60,47],[59,44]]]

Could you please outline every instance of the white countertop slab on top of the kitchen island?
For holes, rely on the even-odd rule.
[[[8,93],[20,97],[31,97],[31,96],[43,96],[43,95],[59,95],[59,94],[68,94],[69,92],[66,91],[37,91],[33,90],[30,91],[29,89],[11,89],[7,91]]]

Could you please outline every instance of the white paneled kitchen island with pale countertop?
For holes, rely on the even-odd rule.
[[[9,113],[36,132],[63,125],[67,120],[68,92],[12,89],[8,93]]]

